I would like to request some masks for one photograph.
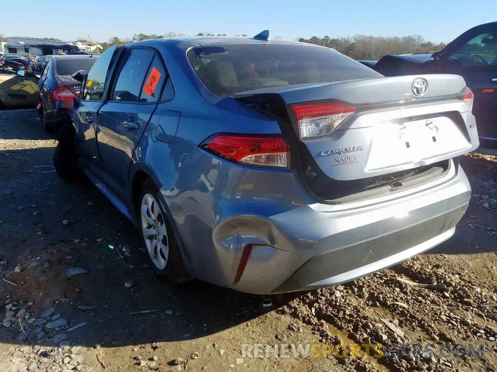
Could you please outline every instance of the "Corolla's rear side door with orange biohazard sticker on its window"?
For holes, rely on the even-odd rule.
[[[159,55],[145,47],[128,48],[116,68],[109,100],[98,112],[98,149],[103,180],[119,200],[128,199],[133,152],[157,107],[166,80]]]

